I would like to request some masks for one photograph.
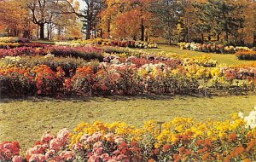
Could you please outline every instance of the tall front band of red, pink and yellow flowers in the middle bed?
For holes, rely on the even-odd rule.
[[[174,95],[198,94],[201,89],[229,91],[232,87],[240,92],[255,90],[256,67],[202,67],[191,65],[189,60],[179,63],[131,58],[114,63],[92,61],[75,70],[64,63],[63,67],[0,67],[0,90],[5,95]]]

